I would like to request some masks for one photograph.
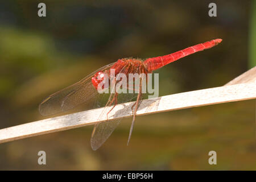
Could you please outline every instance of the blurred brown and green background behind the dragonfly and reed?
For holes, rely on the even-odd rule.
[[[255,1],[214,1],[213,18],[211,1],[43,1],[44,18],[39,2],[0,2],[1,129],[45,118],[45,97],[122,57],[223,39],[159,69],[160,96],[222,86],[256,64]],[[255,100],[137,117],[126,146],[130,123],[97,151],[93,126],[0,144],[0,169],[256,169]],[[217,165],[208,164],[211,150]]]

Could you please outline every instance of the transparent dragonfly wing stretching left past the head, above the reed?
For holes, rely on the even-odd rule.
[[[42,115],[52,115],[61,113],[72,109],[73,107],[84,104],[85,102],[91,101],[99,94],[92,85],[91,78],[98,71],[105,71],[112,67],[114,63],[108,64],[105,67],[98,69],[97,71],[86,76],[79,82],[68,86],[67,88],[60,90],[59,92],[53,93],[47,97],[39,105],[39,112]]]

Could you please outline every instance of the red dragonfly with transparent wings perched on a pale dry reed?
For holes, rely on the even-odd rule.
[[[70,110],[80,104],[89,105],[89,108],[112,106],[110,108],[113,109],[114,106],[119,103],[135,100],[134,105],[131,107],[131,110],[133,111],[133,121],[130,127],[130,134],[127,142],[128,144],[133,131],[136,112],[143,97],[142,78],[139,78],[139,88],[135,88],[138,89],[138,94],[122,94],[118,93],[117,90],[114,90],[113,93],[100,94],[97,90],[98,85],[100,85],[102,81],[110,79],[110,69],[114,69],[115,77],[117,77],[119,73],[123,73],[126,76],[128,76],[129,73],[144,73],[147,75],[148,73],[152,73],[152,71],[155,71],[156,69],[159,69],[164,65],[172,63],[173,61],[176,61],[182,57],[191,55],[195,52],[203,51],[204,49],[212,48],[218,43],[221,43],[221,41],[222,39],[210,40],[208,42],[197,44],[196,46],[188,47],[169,55],[152,57],[144,61],[133,58],[119,59],[115,63],[98,69],[76,84],[68,86],[59,92],[53,93],[39,105],[39,112],[42,115],[52,115]],[[104,77],[104,74],[107,77]],[[117,84],[117,82],[115,82],[115,84]],[[106,114],[109,114],[112,109],[110,109]],[[115,127],[117,127],[119,124],[120,120],[121,119],[98,122],[94,126],[91,138],[91,146],[93,150],[97,150],[105,142],[105,140],[108,139]]]

